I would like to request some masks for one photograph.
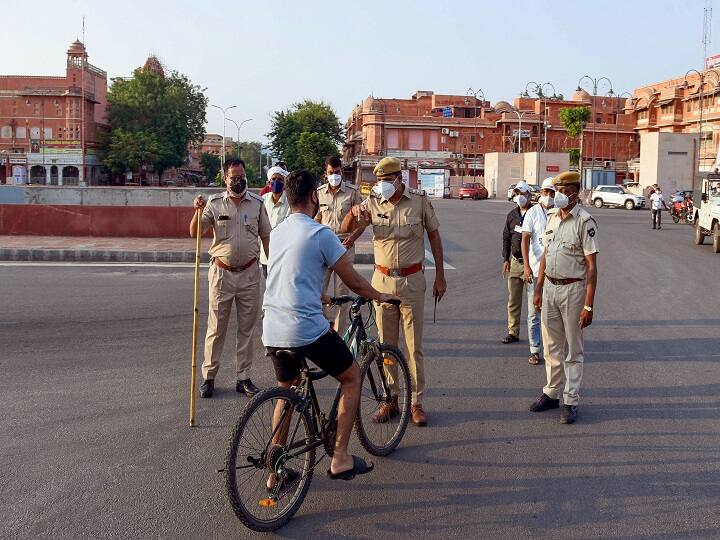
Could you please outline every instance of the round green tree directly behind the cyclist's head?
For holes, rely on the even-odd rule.
[[[268,137],[273,154],[290,170],[306,168],[322,173],[325,157],[338,153],[343,128],[330,105],[305,100],[273,113]]]

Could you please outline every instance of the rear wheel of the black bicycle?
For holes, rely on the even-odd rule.
[[[293,456],[315,435],[307,409],[297,412],[299,404],[300,397],[289,388],[261,392],[247,404],[228,441],[225,486],[230,504],[254,531],[285,525],[310,487],[315,449]],[[285,426],[284,444],[279,438],[282,428],[274,425]],[[276,485],[272,489],[267,487],[271,476]]]

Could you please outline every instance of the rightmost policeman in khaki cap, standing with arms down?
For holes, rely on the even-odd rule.
[[[535,308],[542,309],[547,384],[530,410],[558,408],[564,379],[560,423],[572,424],[577,419],[582,383],[583,330],[593,319],[598,227],[578,204],[578,173],[564,172],[555,177],[554,184],[555,208],[548,212],[545,253],[533,298]]]

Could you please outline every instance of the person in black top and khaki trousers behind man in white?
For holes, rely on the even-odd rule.
[[[513,190],[515,207],[505,218],[502,234],[502,277],[508,286],[508,333],[502,343],[520,341],[520,312],[525,292],[524,259],[522,254],[522,226],[525,214],[530,208],[530,188],[525,180],[521,180]]]

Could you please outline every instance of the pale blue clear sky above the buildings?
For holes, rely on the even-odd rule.
[[[92,64],[129,76],[149,54],[235,105],[242,140],[267,140],[273,111],[323,100],[344,123],[370,94],[416,90],[512,101],[529,81],[566,97],[583,75],[616,93],[702,66],[703,0],[35,0],[5,10],[0,74],[62,75],[82,36]],[[717,6],[718,27],[720,6]],[[30,9],[30,8],[28,8]],[[8,20],[9,17],[9,20]],[[720,52],[720,33],[708,54]],[[591,90],[591,86],[586,88]],[[602,88],[604,93],[608,89]],[[222,133],[222,113],[207,111]],[[227,124],[228,136],[237,129]]]

